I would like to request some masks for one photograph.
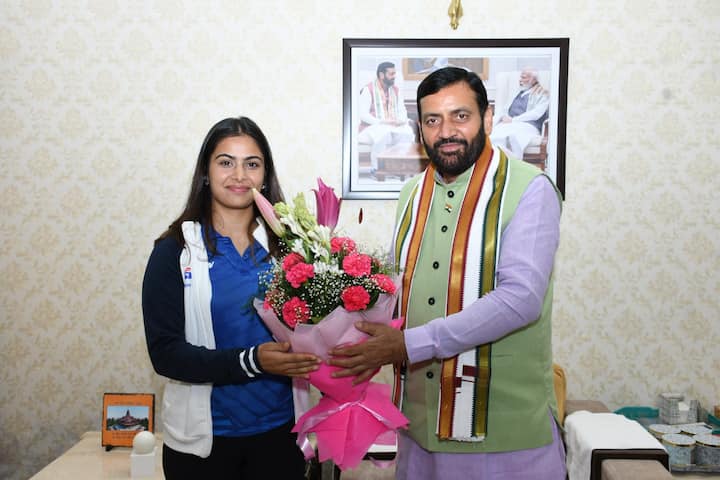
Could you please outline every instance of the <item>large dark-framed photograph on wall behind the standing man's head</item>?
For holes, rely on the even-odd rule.
[[[567,38],[343,39],[343,198],[396,199],[427,166],[417,87],[445,66],[478,74],[491,142],[564,196],[568,49]]]

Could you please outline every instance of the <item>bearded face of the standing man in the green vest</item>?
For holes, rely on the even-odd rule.
[[[485,147],[485,128],[475,92],[465,82],[420,100],[420,129],[430,161],[445,177],[470,168]]]

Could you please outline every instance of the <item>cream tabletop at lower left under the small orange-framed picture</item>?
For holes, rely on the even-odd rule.
[[[162,435],[156,434],[155,475],[143,480],[163,480]],[[115,447],[105,451],[100,445],[100,432],[85,432],[70,450],[56,458],[31,477],[31,480],[99,480],[130,478],[130,447]]]

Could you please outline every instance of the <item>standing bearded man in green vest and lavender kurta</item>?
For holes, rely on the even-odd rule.
[[[431,164],[398,202],[405,329],[359,322],[370,338],[330,363],[355,382],[403,364],[398,479],[562,480],[550,329],[559,194],[490,144],[476,74],[438,70],[417,100]]]

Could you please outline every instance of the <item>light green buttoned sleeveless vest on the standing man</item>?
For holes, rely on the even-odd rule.
[[[509,176],[502,203],[502,230],[512,219],[528,184],[542,172],[525,162],[509,159]],[[435,196],[416,264],[408,306],[407,328],[445,316],[452,232],[471,170],[451,185],[435,186]],[[417,177],[400,193],[399,209],[406,204]],[[448,195],[448,192],[453,193]],[[449,228],[443,228],[447,226]],[[434,265],[434,262],[437,262]],[[435,268],[439,264],[439,268]],[[430,304],[420,299],[434,298]],[[482,442],[439,440],[436,435],[441,363],[429,360],[408,368],[403,413],[410,420],[409,433],[433,452],[504,452],[552,442],[548,411],[557,417],[551,351],[552,278],[540,317],[528,326],[494,342],[490,354],[490,388],[487,433]]]

